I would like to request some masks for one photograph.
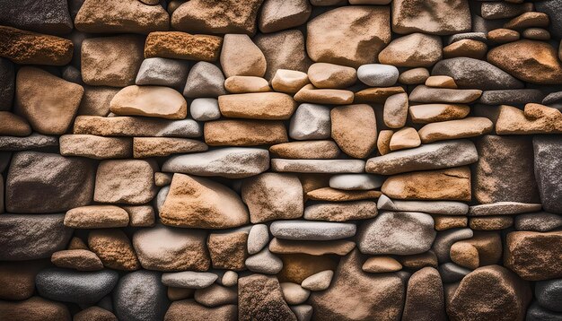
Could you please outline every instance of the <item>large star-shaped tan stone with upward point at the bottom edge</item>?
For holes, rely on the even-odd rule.
[[[312,292],[314,316],[321,320],[371,320],[400,318],[404,285],[395,274],[370,274],[361,270],[357,251],[338,265],[327,291]]]

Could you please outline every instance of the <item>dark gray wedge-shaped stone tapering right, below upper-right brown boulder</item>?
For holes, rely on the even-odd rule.
[[[522,82],[495,65],[465,56],[441,60],[431,74],[450,76],[459,88],[483,91],[523,88]]]

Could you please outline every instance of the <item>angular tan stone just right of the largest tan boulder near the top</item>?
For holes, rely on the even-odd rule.
[[[379,61],[400,67],[429,67],[441,60],[441,49],[441,38],[416,32],[392,40],[379,53]]]

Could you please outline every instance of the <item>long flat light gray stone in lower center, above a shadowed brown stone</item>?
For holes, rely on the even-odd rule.
[[[356,225],[330,221],[274,221],[269,226],[278,239],[332,240],[356,235]]]

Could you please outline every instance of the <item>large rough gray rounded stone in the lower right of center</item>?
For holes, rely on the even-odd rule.
[[[435,234],[431,215],[382,212],[360,225],[357,247],[364,254],[408,256],[428,251]]]

